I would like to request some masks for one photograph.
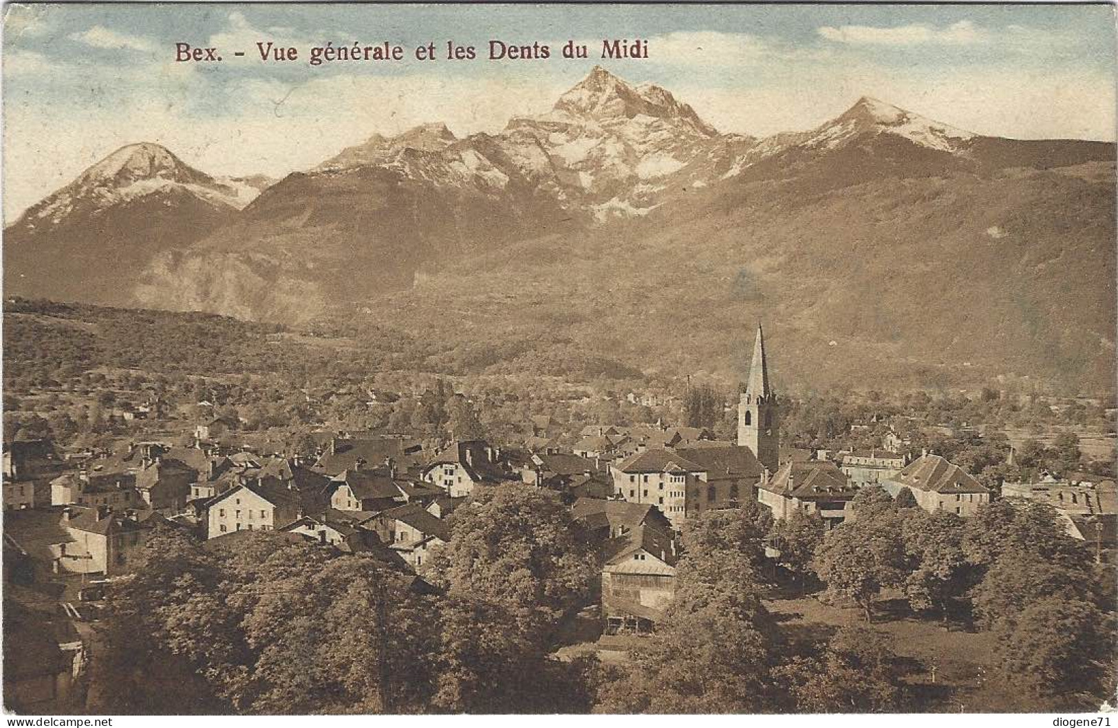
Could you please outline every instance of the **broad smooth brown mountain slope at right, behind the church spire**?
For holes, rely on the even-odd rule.
[[[1114,183],[1105,163],[824,191],[816,179],[750,182],[525,240],[368,305],[439,340],[561,331],[580,351],[665,376],[740,379],[762,320],[781,387],[1003,377],[1109,391]],[[498,370],[547,361],[527,351]]]

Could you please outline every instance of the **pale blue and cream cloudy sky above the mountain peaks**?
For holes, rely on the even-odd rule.
[[[595,64],[723,132],[812,129],[868,95],[979,134],[1115,140],[1115,9],[1097,6],[19,4],[2,48],[6,224],[129,143],[210,174],[282,177],[375,133],[457,135],[542,113]],[[647,59],[601,59],[604,39]],[[549,59],[487,59],[490,40]],[[589,58],[565,59],[568,40]],[[264,63],[257,42],[295,47]],[[310,49],[404,46],[311,66]],[[447,41],[475,60],[447,60]],[[177,63],[176,44],[220,63]],[[435,42],[436,60],[415,48]],[[233,53],[240,50],[243,57]]]

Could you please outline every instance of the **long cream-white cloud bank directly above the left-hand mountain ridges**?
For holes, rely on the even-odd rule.
[[[41,107],[10,101],[4,110],[4,215],[15,219],[129,143],[163,144],[210,174],[282,177],[313,168],[375,133],[397,134],[425,122],[445,122],[458,136],[498,132],[513,115],[546,111],[566,87],[500,72],[482,78],[334,75],[294,85],[243,79],[230,92],[236,106],[199,119],[181,111],[187,87],[160,85],[163,93],[138,97],[126,114],[101,106],[55,115],[49,133]]]

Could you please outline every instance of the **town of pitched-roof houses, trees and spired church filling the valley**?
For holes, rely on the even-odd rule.
[[[1112,701],[1102,398],[794,395],[760,325],[730,394],[29,374],[8,335],[19,712]]]

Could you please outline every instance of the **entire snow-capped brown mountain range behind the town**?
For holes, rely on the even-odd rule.
[[[125,146],[6,229],[4,286],[500,339],[494,371],[547,349],[732,378],[764,319],[800,386],[1109,387],[1114,162],[869,97],[723,134],[595,67],[499,133],[377,134],[274,183]]]

